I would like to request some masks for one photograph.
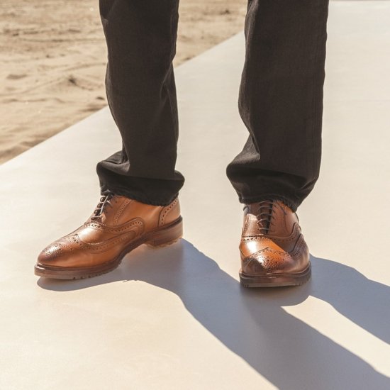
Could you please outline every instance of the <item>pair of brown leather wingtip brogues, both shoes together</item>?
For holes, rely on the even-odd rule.
[[[135,247],[169,245],[182,234],[178,199],[168,206],[152,206],[109,194],[101,197],[82,226],[40,252],[35,274],[54,279],[96,277],[118,267]],[[245,287],[294,286],[311,276],[298,217],[282,201],[245,205],[240,256],[240,282]]]

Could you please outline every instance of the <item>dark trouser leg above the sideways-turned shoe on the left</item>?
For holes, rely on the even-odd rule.
[[[100,0],[106,94],[123,140],[122,150],[96,167],[102,194],[167,205],[184,183],[174,169],[178,6],[179,0]]]

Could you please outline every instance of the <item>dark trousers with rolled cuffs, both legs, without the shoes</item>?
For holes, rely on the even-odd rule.
[[[167,205],[184,184],[175,170],[178,6],[100,0],[108,104],[123,139],[97,166],[102,194]],[[242,203],[279,199],[296,210],[318,179],[327,18],[328,0],[248,1],[238,107],[249,137],[227,168]]]

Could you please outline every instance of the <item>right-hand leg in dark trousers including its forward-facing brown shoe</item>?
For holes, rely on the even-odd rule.
[[[239,110],[249,138],[227,174],[245,206],[246,286],[310,277],[296,208],[321,161],[328,0],[249,0]]]

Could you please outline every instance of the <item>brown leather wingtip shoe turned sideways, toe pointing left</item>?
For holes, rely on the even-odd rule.
[[[110,272],[142,244],[164,246],[183,234],[179,200],[168,206],[143,204],[125,196],[102,196],[84,225],[46,247],[35,274],[84,279]]]

